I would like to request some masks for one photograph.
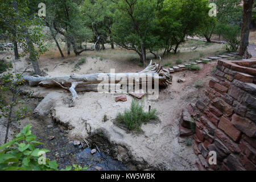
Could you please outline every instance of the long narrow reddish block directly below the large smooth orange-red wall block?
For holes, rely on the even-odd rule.
[[[229,139],[228,136],[226,136],[221,130],[215,130],[215,135],[218,139],[221,140],[222,143],[225,144],[228,149],[234,153],[241,152],[240,147],[238,147],[238,144],[233,142],[232,139]]]

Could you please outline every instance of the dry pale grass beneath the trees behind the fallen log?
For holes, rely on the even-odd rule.
[[[64,43],[60,43],[61,49],[63,50],[64,56],[67,57],[67,46]],[[91,47],[92,44],[88,43],[87,47]],[[197,46],[195,51],[192,51],[192,47]],[[81,53],[82,57],[93,57],[99,58],[100,60],[115,60],[115,61],[131,61],[132,64],[139,65],[139,56],[135,51],[126,50],[115,46],[115,49],[111,49],[109,44],[105,44],[105,50],[101,51],[84,51]],[[51,51],[44,54],[49,59],[59,59],[60,53],[55,44],[51,44]],[[168,67],[168,65],[176,65],[176,60],[181,60],[182,64],[189,63],[191,60],[200,59],[200,57],[216,56],[225,52],[225,48],[222,44],[217,43],[207,43],[201,40],[188,40],[179,47],[179,51],[174,54],[170,53],[168,55],[162,56],[164,50],[158,53],[162,57],[162,64]],[[75,57],[73,51],[71,50],[71,55],[68,57]],[[152,59],[158,62],[159,59],[155,59],[154,55],[147,52],[148,63]]]

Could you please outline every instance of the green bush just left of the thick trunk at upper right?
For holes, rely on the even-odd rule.
[[[240,44],[241,28],[234,24],[219,24],[221,36],[226,40],[226,50],[228,52],[236,52]]]

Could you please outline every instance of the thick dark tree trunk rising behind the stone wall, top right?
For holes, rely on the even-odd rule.
[[[253,9],[253,0],[243,1],[243,20],[242,20],[242,33],[240,41],[240,56],[245,53],[246,47],[249,44],[250,23],[251,23],[251,10]]]

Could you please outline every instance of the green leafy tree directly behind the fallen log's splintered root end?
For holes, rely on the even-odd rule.
[[[114,4],[113,40],[119,46],[138,53],[146,65],[146,50],[154,49],[159,36],[156,27],[156,0],[121,0]]]

